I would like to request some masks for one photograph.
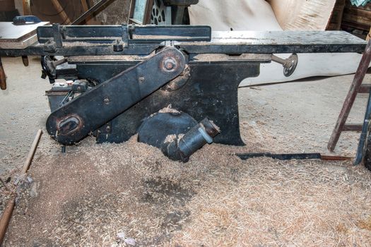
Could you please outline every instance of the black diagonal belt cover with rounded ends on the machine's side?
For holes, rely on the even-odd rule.
[[[178,49],[164,49],[52,112],[47,132],[59,143],[77,143],[179,76],[185,64]]]

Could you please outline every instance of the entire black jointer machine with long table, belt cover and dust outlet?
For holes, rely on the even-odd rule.
[[[340,31],[211,32],[208,26],[99,25],[37,28],[35,44],[1,56],[42,56],[50,83],[49,135],[72,145],[139,141],[186,162],[206,143],[244,145],[237,90],[260,64],[295,71],[297,53],[357,52],[366,42]],[[273,54],[293,54],[280,59]],[[169,107],[171,106],[171,107]]]

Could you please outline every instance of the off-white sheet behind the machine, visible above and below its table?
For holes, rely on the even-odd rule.
[[[288,10],[290,11],[290,10]],[[214,31],[282,30],[271,6],[264,0],[200,0],[189,8],[191,25],[211,25]],[[290,54],[278,54],[287,57]],[[241,85],[275,83],[310,76],[337,76],[355,73],[360,54],[298,54],[299,62],[289,78],[281,64],[261,64],[260,76],[247,78]]]

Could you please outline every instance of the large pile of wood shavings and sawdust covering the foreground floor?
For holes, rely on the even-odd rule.
[[[136,137],[58,151],[42,138],[5,246],[371,243],[371,173],[351,162],[232,155],[265,151],[253,143],[206,145],[183,164]]]

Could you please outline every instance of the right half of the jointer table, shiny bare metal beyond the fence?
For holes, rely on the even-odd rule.
[[[237,47],[238,46],[238,47]],[[223,52],[237,48],[241,53],[363,52],[366,42],[343,31],[214,31],[210,42],[180,42],[191,53]]]

